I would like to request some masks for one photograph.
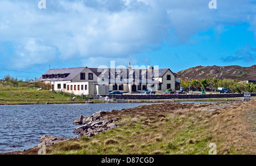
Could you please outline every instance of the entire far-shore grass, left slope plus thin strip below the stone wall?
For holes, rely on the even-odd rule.
[[[77,97],[75,101],[70,101],[68,98],[73,98],[74,95],[55,93],[48,90],[38,91],[37,88],[14,88],[0,86],[0,105],[35,105],[35,104],[72,104],[84,103],[84,99]],[[255,97],[252,97],[255,98]],[[241,101],[243,98],[205,98],[205,99],[131,99],[128,102],[179,102],[179,101]],[[92,100],[94,103],[101,103],[98,100]],[[115,101],[114,101],[115,102]]]

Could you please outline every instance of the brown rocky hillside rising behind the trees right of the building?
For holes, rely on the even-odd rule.
[[[193,67],[177,72],[176,78],[189,77],[193,80],[201,80],[208,77],[216,77],[220,79],[228,78],[233,80],[256,80],[256,65],[251,67],[227,66],[218,67]]]

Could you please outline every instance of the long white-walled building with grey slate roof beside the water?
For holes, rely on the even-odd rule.
[[[66,68],[50,69],[37,81],[50,82],[52,90],[76,95],[143,92],[147,89],[175,89],[175,75],[170,69]]]

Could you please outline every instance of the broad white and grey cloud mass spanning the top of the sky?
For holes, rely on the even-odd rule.
[[[221,32],[220,27],[238,22],[256,25],[249,0],[218,1],[217,10],[206,0],[47,0],[46,10],[34,0],[0,1],[0,44],[16,45],[15,68],[53,59],[126,61],[164,40],[180,44],[209,28]]]

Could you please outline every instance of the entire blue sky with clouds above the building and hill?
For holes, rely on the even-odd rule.
[[[0,79],[49,69],[256,63],[256,0],[0,0]]]

